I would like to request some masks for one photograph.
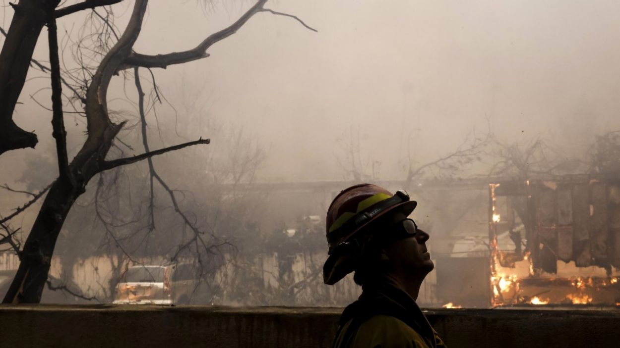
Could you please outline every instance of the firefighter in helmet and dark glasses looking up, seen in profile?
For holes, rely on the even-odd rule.
[[[333,285],[355,272],[362,287],[343,311],[332,347],[445,347],[415,303],[434,267],[428,233],[407,218],[416,205],[404,191],[370,184],[347,188],[330,204],[323,280]]]

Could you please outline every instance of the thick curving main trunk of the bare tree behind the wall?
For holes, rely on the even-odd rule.
[[[24,0],[22,0],[23,2]],[[24,243],[17,274],[4,297],[4,303],[38,303],[50,270],[51,256],[64,220],[88,181],[102,172],[105,156],[123,126],[113,124],[107,115],[107,87],[118,66],[131,53],[138,38],[148,0],[137,0],[130,23],[115,46],[108,51],[92,77],[86,102],[88,137],[68,168],[70,180],[63,173],[52,184],[35,224]]]

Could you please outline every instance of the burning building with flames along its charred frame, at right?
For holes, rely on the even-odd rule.
[[[488,185],[488,239],[437,260],[464,307],[620,305],[620,180],[561,175]]]

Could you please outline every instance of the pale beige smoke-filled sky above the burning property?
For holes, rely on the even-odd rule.
[[[220,1],[205,12],[193,0],[151,0],[136,51],[186,50],[251,4]],[[131,6],[114,7],[120,27]],[[381,176],[401,178],[396,163],[408,148],[431,160],[472,129],[484,132],[487,120],[507,141],[544,136],[568,150],[620,128],[620,2],[290,0],[266,7],[319,32],[257,14],[211,47],[210,58],[154,70],[172,103],[203,88],[211,115],[264,144],[259,180],[342,178],[336,141],[352,130],[363,157],[383,163]],[[68,17],[59,27],[75,30],[81,20]],[[35,58],[47,60],[44,34]],[[18,123],[50,144],[51,113],[27,94],[20,101]],[[183,136],[211,137],[217,146],[216,131],[188,129]]]

